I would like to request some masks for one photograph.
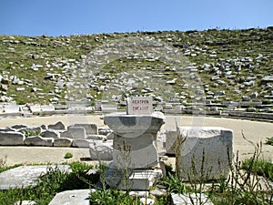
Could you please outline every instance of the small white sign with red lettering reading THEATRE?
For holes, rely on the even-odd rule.
[[[127,115],[150,115],[153,113],[152,97],[128,97]]]

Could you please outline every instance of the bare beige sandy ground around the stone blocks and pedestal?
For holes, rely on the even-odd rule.
[[[0,128],[15,124],[26,124],[30,126],[40,126],[55,124],[62,121],[66,126],[75,123],[96,123],[98,127],[105,127],[102,116],[55,116],[55,117],[36,117],[36,118],[2,118],[0,119]],[[167,116],[166,124],[163,128],[176,128],[180,126],[209,126],[223,127],[233,130],[233,148],[234,152],[239,152],[239,159],[251,157],[254,147],[244,138],[242,131],[249,140],[254,143],[265,142],[267,138],[273,137],[273,123],[250,121],[231,118],[192,118],[192,117],[174,117]],[[263,143],[262,158],[272,161],[273,146]],[[73,154],[72,159],[64,159],[66,152]],[[6,160],[6,165],[38,164],[38,163],[62,163],[65,161],[76,161],[81,158],[88,158],[88,149],[76,148],[46,148],[46,147],[0,147],[1,159]],[[92,163],[92,162],[91,162]]]

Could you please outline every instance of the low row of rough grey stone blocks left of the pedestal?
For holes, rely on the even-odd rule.
[[[14,125],[0,128],[1,146],[45,146],[89,148],[95,141],[106,140],[106,135],[99,135],[96,124],[74,124],[66,126],[56,124],[30,127]]]

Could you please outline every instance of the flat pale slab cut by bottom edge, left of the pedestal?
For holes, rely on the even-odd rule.
[[[91,190],[66,190],[57,193],[48,205],[89,205]]]

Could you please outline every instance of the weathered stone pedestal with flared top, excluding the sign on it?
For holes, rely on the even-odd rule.
[[[116,181],[129,179],[131,181],[129,183],[130,189],[134,189],[134,184],[148,184],[148,187],[150,186],[149,181],[153,181],[153,179],[139,179],[140,175],[136,174],[138,173],[136,169],[142,169],[142,172],[147,170],[149,175],[153,176],[150,174],[154,171],[151,168],[159,163],[156,143],[157,132],[164,123],[165,117],[160,112],[154,112],[150,115],[126,115],[126,113],[106,115],[105,124],[114,132],[113,162],[106,176],[107,183],[110,186],[124,189],[124,186],[115,183],[114,186],[111,182],[113,173],[130,173],[129,175],[122,176],[119,174],[114,177],[115,179],[120,178]],[[147,186],[137,186],[137,188],[147,190]]]

